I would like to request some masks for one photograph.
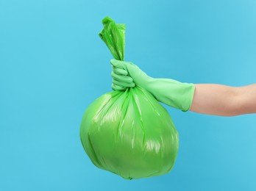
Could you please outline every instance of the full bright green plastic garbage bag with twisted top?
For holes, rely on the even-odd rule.
[[[99,36],[116,60],[124,60],[125,25],[108,17],[102,23]],[[179,146],[166,109],[138,86],[106,93],[93,101],[83,115],[80,138],[96,167],[124,179],[168,173]]]

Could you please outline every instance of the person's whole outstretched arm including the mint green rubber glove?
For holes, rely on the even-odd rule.
[[[132,62],[111,60],[113,90],[141,86],[158,101],[182,111],[234,116],[256,113],[256,84],[230,87],[221,84],[188,84],[154,79]]]

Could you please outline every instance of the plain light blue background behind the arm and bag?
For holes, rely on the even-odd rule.
[[[127,24],[126,60],[150,76],[255,83],[256,1],[0,0],[0,190],[256,190],[255,115],[168,108],[174,169],[127,181],[79,140],[83,112],[111,91],[102,18]]]

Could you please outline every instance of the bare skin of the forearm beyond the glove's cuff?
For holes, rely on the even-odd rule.
[[[195,84],[191,111],[234,116],[256,112],[256,84],[230,87],[221,84]]]

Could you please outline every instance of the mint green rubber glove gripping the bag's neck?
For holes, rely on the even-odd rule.
[[[168,106],[188,111],[193,101],[194,84],[178,82],[174,79],[154,79],[132,62],[111,60],[113,90],[127,90],[136,85],[154,95],[158,101]]]

